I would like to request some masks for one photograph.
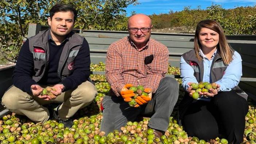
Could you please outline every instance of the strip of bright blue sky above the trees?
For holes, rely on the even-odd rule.
[[[129,5],[125,10],[128,16],[132,11],[136,13],[144,13],[151,15],[153,13],[168,13],[171,9],[182,11],[185,6],[191,6],[192,9],[201,6],[201,9],[206,9],[210,5],[222,5],[222,8],[233,9],[235,7],[255,6],[256,0],[138,0],[139,5]]]

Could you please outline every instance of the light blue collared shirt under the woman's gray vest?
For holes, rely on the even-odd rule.
[[[203,82],[209,82],[211,81],[211,75],[210,75],[210,68],[212,65],[212,61],[214,56],[216,55],[217,50],[212,55],[211,59],[209,60],[206,58],[206,56],[203,54],[202,50],[200,49],[199,54],[203,57]],[[193,68],[187,64],[183,57],[181,57],[181,78],[182,78],[182,86],[186,90],[189,85],[187,83],[193,82],[198,83],[197,79],[194,76],[194,70]],[[232,90],[235,86],[238,85],[240,78],[242,76],[242,59],[240,54],[238,52],[234,52],[233,60],[229,63],[228,67],[225,70],[225,74],[223,77],[218,80],[217,84],[220,85],[220,91],[226,92]]]

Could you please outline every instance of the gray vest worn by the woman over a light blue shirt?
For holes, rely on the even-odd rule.
[[[197,79],[197,82],[201,82],[203,80],[203,60],[199,61],[195,55],[195,50],[190,50],[184,54],[182,54],[184,60],[194,69],[194,76]],[[211,66],[211,79],[212,82],[216,82],[220,80],[228,65],[225,65],[223,62],[221,55],[217,52],[215,57],[213,58],[213,63]],[[241,90],[238,86],[234,87],[233,90],[240,95],[241,97],[247,100],[247,94]]]

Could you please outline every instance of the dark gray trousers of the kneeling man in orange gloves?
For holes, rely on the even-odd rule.
[[[106,135],[115,129],[120,130],[128,121],[134,121],[139,114],[154,113],[148,123],[153,129],[166,131],[169,117],[179,96],[179,84],[171,77],[161,79],[156,93],[148,104],[132,108],[122,97],[105,96],[102,102],[103,119],[100,131]]]

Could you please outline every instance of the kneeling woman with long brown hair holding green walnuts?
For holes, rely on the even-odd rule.
[[[194,49],[181,57],[182,86],[185,97],[179,105],[179,118],[189,136],[210,140],[226,138],[229,143],[243,141],[247,94],[238,87],[242,76],[241,56],[226,40],[214,20],[198,23]],[[216,89],[199,92],[192,98],[192,83],[216,83]]]

